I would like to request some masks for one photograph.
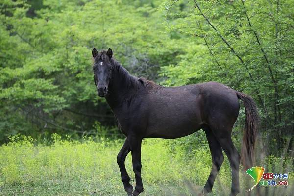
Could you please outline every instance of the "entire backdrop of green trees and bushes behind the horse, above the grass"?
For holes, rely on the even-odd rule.
[[[279,154],[294,124],[292,1],[4,1],[0,140],[115,127],[91,68],[91,49],[111,47],[130,73],[163,85],[213,80],[251,95],[262,137],[278,143],[267,153]]]

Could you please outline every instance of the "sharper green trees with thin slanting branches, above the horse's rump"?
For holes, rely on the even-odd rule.
[[[293,3],[170,0],[162,6],[166,29],[190,40],[177,64],[161,67],[164,83],[212,80],[251,95],[263,139],[277,143],[264,149],[269,154],[281,153],[289,139],[294,141]]]

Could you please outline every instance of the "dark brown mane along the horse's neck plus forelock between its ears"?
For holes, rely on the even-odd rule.
[[[102,60],[106,60],[106,50],[102,50],[98,53],[98,55],[94,59],[94,63],[102,58]],[[104,54],[104,55],[103,55]],[[107,58],[108,59],[108,58]],[[144,77],[135,77],[131,75],[118,61],[115,60],[114,57],[110,59],[110,63],[113,66],[113,70],[116,71],[125,81],[125,83],[128,85],[128,88],[134,87],[135,89],[146,89],[147,91],[150,91],[151,89],[155,87],[159,87],[158,84],[153,82],[152,80],[147,80]]]

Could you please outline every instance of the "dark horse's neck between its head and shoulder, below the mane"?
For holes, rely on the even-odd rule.
[[[115,110],[116,107],[122,106],[126,99],[132,97],[138,88],[138,82],[121,65],[116,65],[105,96],[110,108]]]

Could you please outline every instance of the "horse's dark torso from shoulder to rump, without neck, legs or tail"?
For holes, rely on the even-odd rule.
[[[138,94],[130,98],[116,116],[126,135],[178,138],[192,134],[204,124],[216,122],[216,118],[229,117],[228,121],[235,122],[238,112],[239,102],[233,89],[207,82],[158,87]]]

